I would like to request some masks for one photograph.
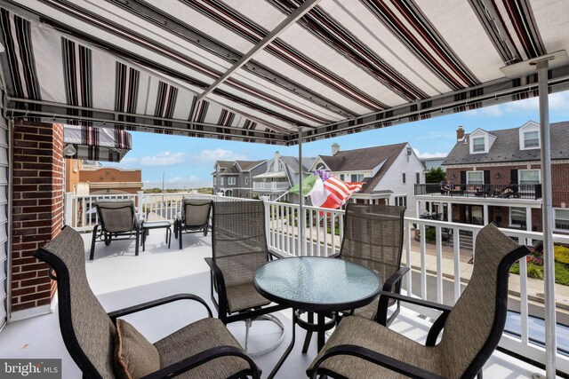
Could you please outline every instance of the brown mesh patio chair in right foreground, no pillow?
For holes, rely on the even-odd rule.
[[[529,254],[494,225],[477,235],[476,263],[453,307],[391,292],[381,292],[380,307],[389,298],[441,311],[426,345],[416,343],[379,322],[358,316],[341,320],[307,374],[333,377],[471,378],[482,370],[498,345],[506,322],[509,267]],[[445,328],[440,342],[437,338]]]

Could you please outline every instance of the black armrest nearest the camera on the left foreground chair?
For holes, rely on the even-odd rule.
[[[142,379],[158,379],[158,378],[170,378],[172,376],[180,375],[191,370],[194,367],[203,365],[212,359],[220,357],[239,357],[247,361],[251,367],[252,377],[259,378],[260,370],[255,365],[255,362],[247,354],[244,353],[242,349],[238,349],[235,346],[216,346],[208,349],[206,351],[198,352],[197,354],[188,357],[186,359],[180,360],[180,362],[173,363],[170,366],[160,368],[152,374],[143,376]]]

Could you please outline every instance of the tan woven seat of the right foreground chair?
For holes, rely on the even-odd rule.
[[[320,359],[325,351],[341,344],[362,346],[432,373],[439,375],[442,373],[442,359],[433,347],[424,346],[394,330],[383,327],[377,322],[359,316],[349,316],[341,320],[340,325],[322,351],[318,353],[309,370],[313,368],[317,359]],[[326,359],[320,367],[347,378],[390,379],[406,377],[365,359],[348,355],[337,355]]]

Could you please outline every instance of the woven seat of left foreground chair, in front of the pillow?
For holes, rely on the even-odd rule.
[[[160,353],[162,367],[167,367],[182,359],[187,359],[198,352],[216,346],[234,346],[242,349],[234,336],[225,328],[219,319],[198,320],[187,327],[166,336],[154,343]],[[246,360],[237,357],[220,357],[212,359],[201,366],[192,368],[176,378],[227,378],[244,373],[250,366]],[[241,374],[244,376],[244,374]],[[238,376],[238,377],[241,377]]]

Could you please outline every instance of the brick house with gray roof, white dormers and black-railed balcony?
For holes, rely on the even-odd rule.
[[[569,122],[550,125],[555,233],[569,232]],[[445,188],[418,186],[417,198],[443,219],[541,231],[541,137],[537,122],[519,128],[457,130]],[[434,209],[433,209],[434,208]]]

